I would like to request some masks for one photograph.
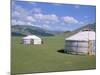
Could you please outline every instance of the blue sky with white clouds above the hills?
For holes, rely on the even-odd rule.
[[[72,31],[96,22],[90,5],[12,1],[12,25],[31,25],[52,31]]]

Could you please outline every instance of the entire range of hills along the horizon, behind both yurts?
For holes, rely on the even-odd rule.
[[[26,35],[54,36],[54,35],[64,34],[70,36],[83,29],[91,29],[93,31],[96,31],[96,23],[85,25],[73,31],[64,31],[64,32],[50,31],[40,27],[29,26],[29,25],[12,25],[11,35],[12,36],[26,36]]]

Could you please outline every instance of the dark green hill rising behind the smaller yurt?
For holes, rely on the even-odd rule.
[[[26,25],[12,25],[11,26],[12,36],[25,36],[25,35],[39,35],[39,36],[53,36],[49,31],[35,27],[35,26],[26,26]]]

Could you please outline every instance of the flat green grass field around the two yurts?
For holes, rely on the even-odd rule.
[[[20,44],[21,37],[12,37],[11,73],[85,70],[96,68],[96,57],[58,52],[64,49],[64,37],[42,37],[42,45]]]

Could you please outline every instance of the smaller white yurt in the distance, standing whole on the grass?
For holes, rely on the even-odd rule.
[[[42,44],[42,39],[36,35],[28,35],[22,38],[22,43],[38,45],[38,44]]]

